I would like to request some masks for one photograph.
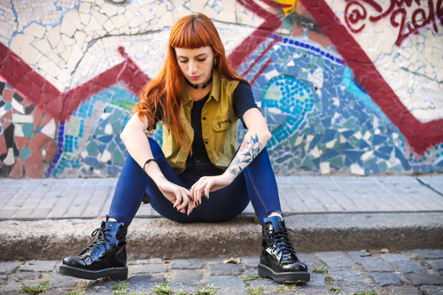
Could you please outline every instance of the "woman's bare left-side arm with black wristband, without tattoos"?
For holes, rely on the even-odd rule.
[[[120,134],[120,138],[132,159],[134,159],[141,168],[144,167],[144,162],[147,159],[154,158],[149,140],[144,134],[144,130],[147,128],[148,120],[145,117],[141,120],[137,114],[134,113]],[[189,190],[169,182],[154,161],[146,165],[144,172],[151,177],[163,195],[174,204],[174,207],[176,207],[179,212],[186,212],[185,207],[190,203]],[[190,211],[191,208],[189,207],[188,214]]]

